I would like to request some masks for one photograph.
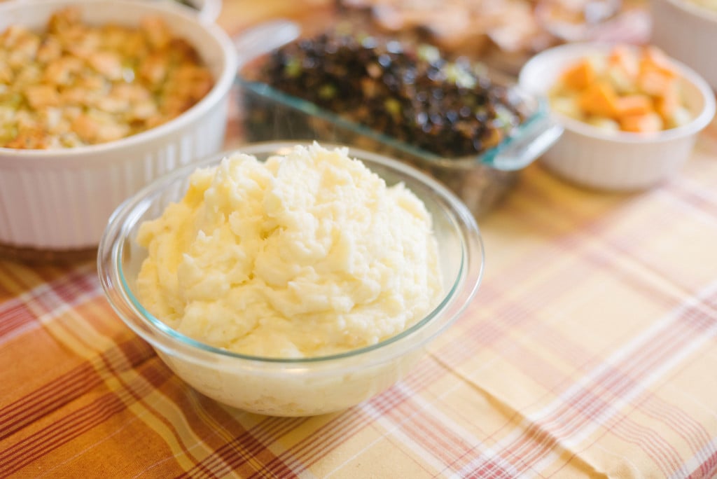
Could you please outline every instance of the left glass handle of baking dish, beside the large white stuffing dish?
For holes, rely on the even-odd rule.
[[[299,33],[298,24],[285,19],[272,20],[244,30],[232,38],[239,56],[239,67],[262,54],[293,42]]]

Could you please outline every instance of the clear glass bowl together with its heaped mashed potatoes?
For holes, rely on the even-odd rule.
[[[483,244],[465,204],[412,166],[255,143],[125,201],[98,271],[120,318],[194,389],[306,416],[402,379],[475,295]]]

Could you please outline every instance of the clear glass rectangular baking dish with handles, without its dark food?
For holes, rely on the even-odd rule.
[[[293,22],[267,22],[234,39],[239,52],[240,112],[247,141],[318,140],[342,143],[411,163],[448,186],[476,217],[495,207],[516,184],[519,172],[541,156],[562,133],[548,105],[520,90],[510,79],[490,72],[493,82],[510,87],[525,103],[528,118],[511,136],[480,155],[446,158],[399,141],[314,103],[251,79],[252,68],[272,49],[293,41]]]

